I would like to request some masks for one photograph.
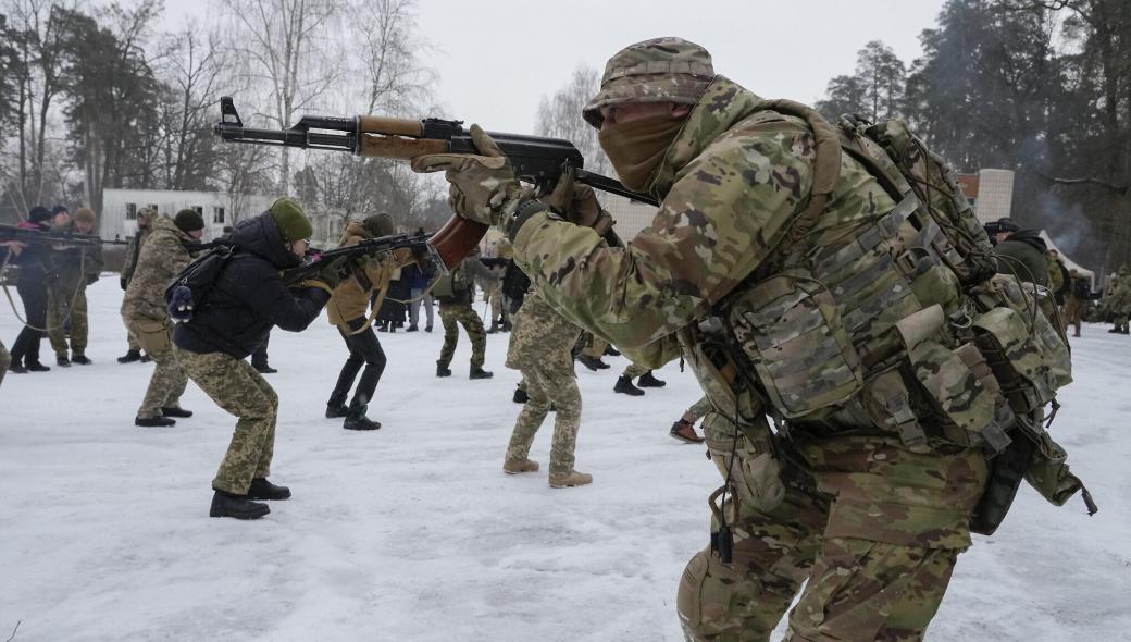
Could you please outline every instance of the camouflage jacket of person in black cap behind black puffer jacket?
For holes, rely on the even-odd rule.
[[[166,215],[150,223],[152,231],[138,254],[133,277],[122,299],[122,316],[130,319],[163,322],[169,319],[165,288],[192,262],[185,242],[196,239],[182,232]]]

